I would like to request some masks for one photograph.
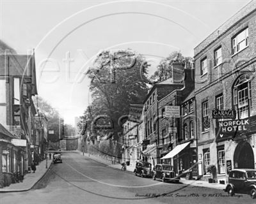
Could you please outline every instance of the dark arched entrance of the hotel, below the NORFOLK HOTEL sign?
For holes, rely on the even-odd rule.
[[[235,168],[253,168],[254,156],[251,145],[248,142],[240,142],[234,153]]]

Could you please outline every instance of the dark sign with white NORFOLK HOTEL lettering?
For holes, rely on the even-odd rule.
[[[250,130],[250,120],[230,120],[219,122],[219,127],[221,128],[221,133],[235,133]]]

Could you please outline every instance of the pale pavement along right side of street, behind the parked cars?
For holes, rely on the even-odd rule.
[[[77,151],[79,152],[79,151]],[[83,155],[83,152],[80,152],[81,155]],[[95,154],[90,154],[90,156],[87,153],[84,153],[84,156],[89,157],[90,159],[93,159],[94,161],[97,161],[99,163],[106,164],[112,168],[119,169],[121,171],[121,164],[112,164],[111,161],[106,160],[100,156],[97,156]],[[127,173],[133,173],[134,171],[134,166],[127,166],[126,169]],[[186,180],[184,178],[180,178],[180,183],[190,185],[190,186],[198,186],[198,187],[208,187],[211,189],[220,189],[223,190],[227,186],[226,184],[210,184],[209,182],[206,182],[204,180]]]

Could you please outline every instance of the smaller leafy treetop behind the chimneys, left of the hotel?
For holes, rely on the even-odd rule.
[[[168,57],[161,60],[157,66],[157,71],[150,77],[155,82],[161,82],[172,77],[172,62],[184,62],[190,68],[192,57],[184,57],[180,52],[174,51]]]

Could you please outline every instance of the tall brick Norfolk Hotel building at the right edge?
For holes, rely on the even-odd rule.
[[[251,1],[195,48],[198,175],[226,180],[234,168],[256,168],[256,1]],[[213,119],[212,110],[236,110]]]

